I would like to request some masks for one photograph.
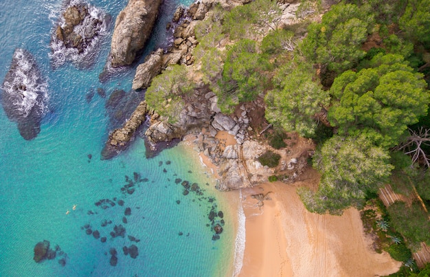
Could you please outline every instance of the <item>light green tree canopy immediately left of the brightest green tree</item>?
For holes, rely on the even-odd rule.
[[[310,65],[288,63],[273,78],[275,89],[265,97],[266,118],[286,131],[297,131],[312,137],[317,127],[315,113],[330,102],[328,91],[313,80],[315,71]]]

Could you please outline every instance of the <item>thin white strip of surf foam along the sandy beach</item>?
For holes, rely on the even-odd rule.
[[[246,229],[245,229],[245,212],[242,207],[242,190],[240,190],[240,203],[238,207],[238,233],[234,243],[234,272],[233,276],[238,276],[243,265],[243,254],[245,252]]]

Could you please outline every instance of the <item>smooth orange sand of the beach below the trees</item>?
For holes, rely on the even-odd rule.
[[[260,210],[251,195],[269,191],[272,200]],[[242,190],[242,199],[247,221],[240,276],[383,276],[400,267],[371,249],[356,209],[341,217],[310,213],[296,187],[282,183]]]

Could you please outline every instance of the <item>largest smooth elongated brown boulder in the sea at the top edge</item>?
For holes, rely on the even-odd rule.
[[[118,14],[111,42],[111,65],[131,65],[144,48],[159,11],[161,0],[130,0]]]

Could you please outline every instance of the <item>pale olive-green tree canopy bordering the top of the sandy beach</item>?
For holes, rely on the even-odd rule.
[[[350,206],[360,208],[368,192],[376,192],[389,177],[393,166],[384,148],[374,146],[364,136],[327,140],[313,157],[321,173],[317,192],[299,190],[311,212],[341,214]]]

